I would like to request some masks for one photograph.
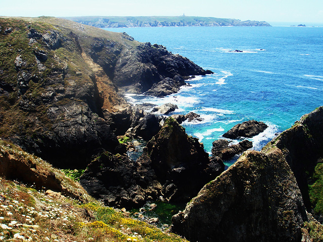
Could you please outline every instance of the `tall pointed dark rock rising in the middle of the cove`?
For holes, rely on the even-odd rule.
[[[188,136],[171,117],[147,143],[147,153],[169,201],[188,201],[209,181],[205,174],[210,161],[203,145],[198,139]],[[221,172],[212,176],[216,177]]]

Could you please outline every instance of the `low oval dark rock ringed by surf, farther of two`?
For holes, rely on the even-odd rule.
[[[231,130],[223,135],[228,139],[237,139],[238,137],[251,138],[263,132],[268,126],[256,120],[248,120],[242,124],[235,125]]]

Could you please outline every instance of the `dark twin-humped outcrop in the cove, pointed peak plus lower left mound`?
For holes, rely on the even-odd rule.
[[[221,160],[209,159],[203,145],[168,118],[136,161],[104,153],[88,165],[80,183],[109,206],[131,208],[160,197],[188,202],[223,170]]]

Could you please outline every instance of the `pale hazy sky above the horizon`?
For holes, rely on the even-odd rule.
[[[323,23],[323,0],[2,0],[0,16],[204,16]]]

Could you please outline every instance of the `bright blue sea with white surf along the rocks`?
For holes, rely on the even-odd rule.
[[[184,123],[210,152],[212,142],[248,119],[269,128],[250,139],[256,150],[323,105],[323,28],[164,27],[107,29],[127,32],[188,57],[212,75],[190,81],[166,98],[129,95],[134,103],[175,103],[174,113],[194,111],[201,123]],[[243,52],[230,52],[239,49]],[[237,141],[236,141],[237,142]]]

